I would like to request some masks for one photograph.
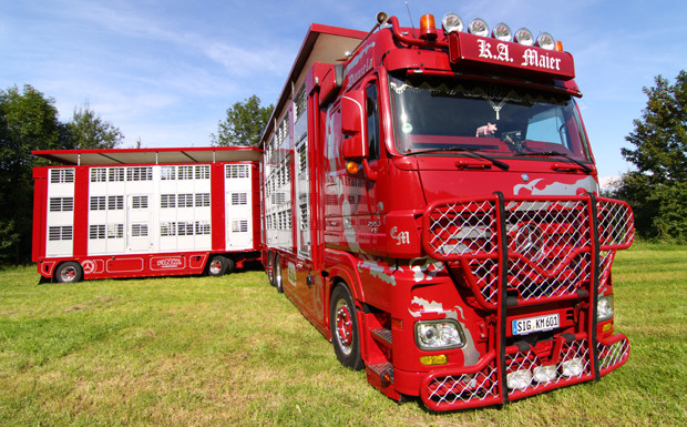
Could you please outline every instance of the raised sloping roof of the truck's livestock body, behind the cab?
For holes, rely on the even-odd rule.
[[[269,122],[263,133],[263,139],[268,136],[275,128],[275,120],[284,114],[287,101],[294,96],[291,93],[303,83],[305,75],[314,62],[337,63],[346,58],[347,51],[352,51],[367,35],[365,31],[350,30],[347,28],[312,23],[300,45],[300,50],[294,60],[289,77],[284,84],[281,94],[275,104]],[[264,143],[260,142],[262,144]]]

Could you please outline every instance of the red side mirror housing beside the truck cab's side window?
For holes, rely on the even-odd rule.
[[[350,136],[341,143],[344,159],[365,159],[369,155],[363,90],[350,91],[341,98],[341,133]]]

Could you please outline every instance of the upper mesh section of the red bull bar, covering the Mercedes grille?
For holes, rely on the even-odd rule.
[[[502,262],[507,262],[509,295],[519,304],[575,297],[578,289],[588,289],[595,245],[601,251],[599,284],[605,284],[615,251],[632,244],[632,224],[629,206],[611,199],[490,196],[430,206],[423,246],[431,257],[447,261],[480,303],[493,309]]]

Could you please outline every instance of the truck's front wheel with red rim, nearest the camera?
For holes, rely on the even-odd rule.
[[[341,365],[355,370],[362,369],[356,306],[350,292],[341,284],[337,285],[331,293],[329,328],[331,329],[334,353],[336,353]]]

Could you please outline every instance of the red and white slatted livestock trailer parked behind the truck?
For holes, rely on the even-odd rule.
[[[51,150],[33,169],[45,278],[222,275],[260,256],[262,150]]]

